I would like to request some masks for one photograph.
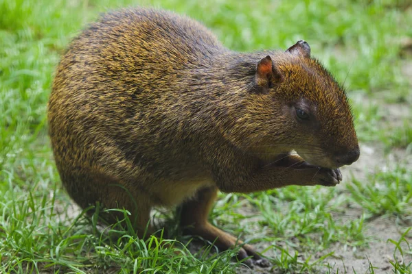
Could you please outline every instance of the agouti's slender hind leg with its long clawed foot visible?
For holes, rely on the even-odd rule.
[[[269,266],[268,261],[260,257],[251,245],[243,244],[243,242],[236,237],[223,232],[207,221],[209,211],[213,206],[217,194],[218,188],[216,187],[203,188],[199,190],[195,199],[183,203],[181,225],[187,227],[190,234],[198,235],[209,242],[214,242],[214,244],[222,250],[231,249],[236,245],[242,245],[238,253],[238,258],[242,260],[253,256],[253,259],[245,261],[249,266],[253,264],[258,264],[263,267]]]

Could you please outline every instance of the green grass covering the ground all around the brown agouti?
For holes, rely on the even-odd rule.
[[[412,38],[408,1],[0,0],[0,273],[236,273],[240,268],[236,250],[216,253],[206,246],[191,252],[194,245],[181,236],[170,212],[157,216],[169,220],[167,236],[173,240],[141,240],[133,227],[102,229],[96,218],[72,214],[68,207],[47,138],[54,69],[71,38],[99,12],[130,5],[188,14],[238,51],[286,49],[307,40],[312,54],[345,82],[361,142],[379,152],[374,157],[391,161],[385,168],[371,161],[375,172],[353,173],[341,188],[290,186],[220,195],[212,223],[259,247],[276,273],[350,273],[351,260],[343,262],[345,269],[330,264],[339,256],[334,247],[367,253],[380,240],[369,226],[389,220],[400,234],[385,242],[394,253],[385,271],[412,272],[412,81],[402,74],[402,64],[412,59],[401,44]],[[389,104],[409,112],[391,116]],[[357,213],[347,213],[352,211]],[[381,273],[369,259],[366,272]]]

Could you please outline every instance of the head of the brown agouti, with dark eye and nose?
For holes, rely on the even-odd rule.
[[[330,169],[358,160],[345,91],[310,57],[308,43],[301,40],[274,60],[268,55],[258,62],[247,100],[249,119],[255,122],[254,145],[273,153],[294,149],[306,162]]]

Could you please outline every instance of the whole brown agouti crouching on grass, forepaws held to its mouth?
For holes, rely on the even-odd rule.
[[[190,18],[146,8],[108,13],[71,42],[48,120],[80,206],[125,208],[140,235],[153,206],[181,206],[181,225],[221,249],[237,239],[207,221],[218,190],[335,186],[359,156],[345,91],[308,43],[238,53]],[[247,256],[267,263],[250,245]]]

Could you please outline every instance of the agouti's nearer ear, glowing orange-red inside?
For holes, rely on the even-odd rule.
[[[268,88],[280,84],[283,78],[282,73],[273,64],[271,56],[267,55],[258,62],[255,81],[261,91],[266,92]]]

